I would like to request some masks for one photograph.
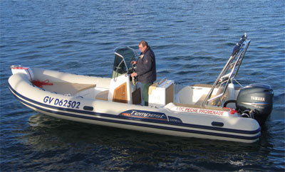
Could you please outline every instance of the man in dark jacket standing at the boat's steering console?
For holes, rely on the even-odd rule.
[[[145,106],[148,106],[148,88],[156,80],[155,53],[146,41],[140,41],[138,48],[141,53],[138,61],[132,62],[133,65],[137,64],[137,69],[131,76],[138,76],[138,81],[142,82],[142,98]]]

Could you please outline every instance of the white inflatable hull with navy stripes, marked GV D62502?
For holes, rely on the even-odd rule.
[[[180,102],[145,107],[133,104],[130,94],[128,102],[114,102],[110,98],[110,90],[107,100],[100,99],[100,93],[108,92],[113,85],[110,78],[38,68],[29,68],[29,71],[32,75],[14,72],[9,77],[9,89],[27,107],[51,117],[155,134],[245,143],[257,141],[261,135],[261,127],[256,120],[231,114],[230,109],[203,109],[193,104],[182,104],[183,98],[177,98],[181,96],[177,90],[175,100]],[[48,80],[53,85],[40,88],[31,80]],[[133,92],[134,87],[126,82],[126,90]]]

